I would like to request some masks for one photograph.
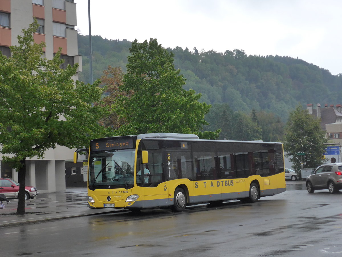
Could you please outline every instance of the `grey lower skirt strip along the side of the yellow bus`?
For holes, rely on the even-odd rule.
[[[275,189],[266,189],[263,192],[260,192],[260,196],[271,196],[275,194],[279,194],[281,192],[285,192],[286,188],[275,188]],[[199,196],[190,196],[189,203],[207,203],[210,201],[219,201],[219,200],[232,200],[249,197],[249,191],[245,192],[234,192],[234,193],[223,193],[223,194],[212,194],[212,195],[199,195]],[[157,199],[157,200],[146,200],[146,201],[136,201],[129,208],[158,208],[158,207],[169,207],[173,205],[173,201],[170,199]]]

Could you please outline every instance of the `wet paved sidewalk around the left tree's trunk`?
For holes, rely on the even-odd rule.
[[[66,191],[38,194],[32,200],[25,201],[26,215],[16,215],[18,199],[3,202],[0,209],[0,228],[43,221],[90,216],[100,213],[126,211],[124,209],[88,208],[87,188],[67,188]]]

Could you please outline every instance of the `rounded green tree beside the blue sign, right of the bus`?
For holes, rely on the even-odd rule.
[[[320,128],[320,119],[315,119],[307,110],[298,106],[290,112],[285,127],[284,151],[293,162],[292,168],[299,172],[303,168],[316,168],[323,161],[325,132]]]

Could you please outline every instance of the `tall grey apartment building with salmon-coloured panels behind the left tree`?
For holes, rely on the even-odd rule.
[[[34,33],[37,43],[44,41],[45,57],[52,59],[58,48],[62,48],[61,58],[67,64],[79,63],[74,79],[82,69],[82,58],[78,55],[76,26],[76,3],[73,0],[0,0],[0,51],[10,56],[9,46],[17,45],[17,35],[23,28],[37,19],[39,28]],[[65,190],[65,161],[73,157],[74,150],[56,146],[45,152],[44,158],[27,160],[26,184],[35,186],[41,193]],[[0,175],[17,180],[17,172],[2,161],[0,155]]]

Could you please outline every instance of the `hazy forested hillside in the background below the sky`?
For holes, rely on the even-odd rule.
[[[78,35],[83,56],[80,80],[89,82],[89,37]],[[99,78],[108,65],[126,71],[131,42],[92,36],[93,78]],[[174,65],[185,76],[185,89],[201,93],[201,101],[212,105],[228,103],[233,111],[250,115],[251,110],[273,113],[286,122],[288,112],[298,103],[342,103],[342,74],[331,75],[301,59],[281,56],[251,56],[244,50],[224,53],[168,49],[175,54]]]

